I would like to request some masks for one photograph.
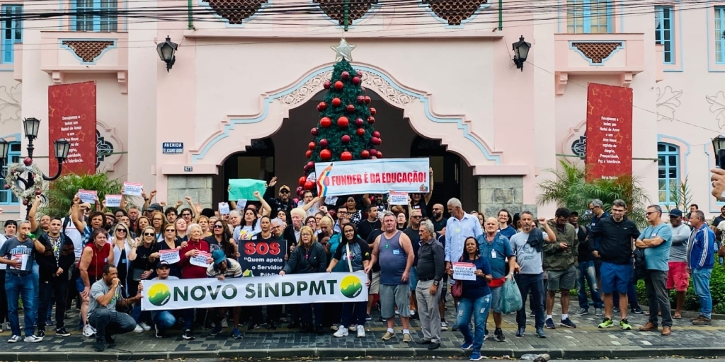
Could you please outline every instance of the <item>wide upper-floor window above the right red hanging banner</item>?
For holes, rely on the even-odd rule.
[[[567,0],[567,33],[611,33],[608,0]]]

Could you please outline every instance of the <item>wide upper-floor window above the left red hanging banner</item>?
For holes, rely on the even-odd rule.
[[[118,0],[72,0],[72,7],[71,30],[118,30]]]

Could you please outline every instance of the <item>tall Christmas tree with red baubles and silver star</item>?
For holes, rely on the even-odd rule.
[[[312,128],[305,174],[299,178],[298,195],[304,190],[315,193],[315,182],[310,173],[315,172],[315,162],[379,159],[383,156],[376,146],[382,143],[380,133],[374,130],[376,109],[368,107],[370,96],[365,96],[361,85],[363,73],[348,62],[355,46],[341,39],[336,51],[336,64],[331,79],[324,83],[328,90],[325,100],[318,104],[320,121]]]

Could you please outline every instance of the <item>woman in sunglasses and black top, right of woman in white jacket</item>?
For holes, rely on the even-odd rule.
[[[155,211],[154,214],[156,212],[158,211]],[[159,214],[161,213],[159,212]],[[160,257],[156,239],[157,232],[154,227],[146,227],[141,234],[141,240],[134,243],[131,248],[130,255],[128,256],[128,260],[133,263],[133,276],[128,283],[128,292],[130,295],[136,295],[138,293],[138,283],[141,280],[153,278],[154,265]],[[138,327],[143,328],[144,331],[151,330],[149,324],[146,323],[150,318],[151,315],[148,312],[144,312],[143,316],[141,315],[140,301],[133,306],[133,319],[138,323],[136,331],[138,331]]]

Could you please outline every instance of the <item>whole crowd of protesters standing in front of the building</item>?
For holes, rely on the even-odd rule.
[[[149,197],[144,193],[140,208],[123,201],[120,208],[106,211],[97,198],[95,204],[83,203],[77,195],[65,217],[38,217],[41,198],[36,198],[28,220],[7,222],[0,238],[0,277],[6,281],[0,290],[0,321],[9,321],[8,342],[41,342],[49,326],[57,336],[70,335],[65,313],[74,304],[80,311],[78,328],[86,337],[95,336],[98,351],[117,334],[154,329],[155,337],[162,338],[174,326],[181,327],[185,340],[194,339],[194,329],[205,328],[216,336],[230,326],[228,335],[241,339],[244,324],[247,331],[275,330],[281,321],[302,333],[331,329],[334,337],[349,337],[349,332],[365,337],[365,323],[379,308],[387,326],[383,340],[400,337],[434,350],[440,347],[441,331],[449,328],[445,310],[452,298],[456,313],[451,327],[463,334],[460,347],[470,350],[476,361],[489,337],[489,314],[492,339],[506,340],[502,288],[511,279],[523,297],[516,312],[516,337],[525,335],[527,316],[534,317],[534,333],[541,338],[546,337],[544,329],[576,328],[569,318],[569,291],[577,288],[576,314],[602,316],[598,327],[609,328],[614,326],[613,313],[620,313],[621,329],[632,329],[627,311],[642,313],[634,295],[637,279],[645,280],[650,307],[649,321],[639,329],[661,326],[660,333],[669,335],[673,316],[668,289],[678,292],[674,319],[682,318],[690,274],[702,306],[692,323],[711,323],[709,278],[717,241],[696,208],[688,216],[671,210],[666,223],[660,206],[649,206],[649,225],[640,232],[627,219],[621,200],[613,202],[610,214],[601,201],[592,200],[589,225],[583,225],[576,212],[563,208],[548,220],[529,211],[512,216],[507,210],[486,218],[465,212],[457,198],[446,206],[429,206],[430,193],[410,194],[407,206],[391,206],[386,195],[335,200],[308,191],[296,201],[288,186],[281,186],[277,195],[275,186],[273,179],[264,195],[255,193],[255,201],[239,208],[230,202],[229,214],[203,208],[188,197],[175,206],[157,203],[153,191]],[[241,243],[269,240],[286,240],[288,245],[280,276],[367,273],[368,302],[141,310],[141,281],[243,277]],[[170,249],[178,249],[180,261],[160,260],[159,252]],[[207,267],[190,262],[201,252],[210,253]],[[459,262],[475,266],[474,277],[455,280]],[[557,294],[558,324],[552,317]],[[25,331],[20,331],[19,300]],[[396,318],[402,334],[395,332]],[[420,320],[421,340],[414,341],[410,319]]]

